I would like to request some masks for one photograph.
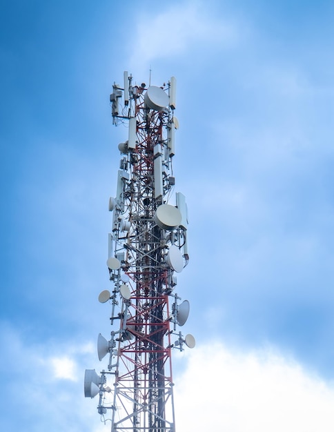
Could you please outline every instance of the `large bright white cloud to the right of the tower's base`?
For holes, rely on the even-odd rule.
[[[175,379],[177,429],[332,431],[334,387],[270,350],[197,346]]]

